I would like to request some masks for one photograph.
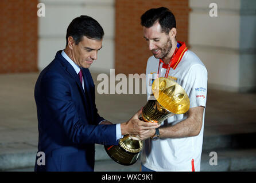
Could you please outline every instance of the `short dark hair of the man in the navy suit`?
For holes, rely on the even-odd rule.
[[[72,36],[75,44],[78,45],[82,41],[82,37],[86,36],[89,39],[101,40],[104,36],[104,30],[94,18],[87,15],[76,17],[69,24],[66,34],[66,46],[68,45],[68,37]]]

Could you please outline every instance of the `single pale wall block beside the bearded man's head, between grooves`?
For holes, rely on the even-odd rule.
[[[189,43],[191,45],[219,46],[238,49],[239,15],[189,14]]]

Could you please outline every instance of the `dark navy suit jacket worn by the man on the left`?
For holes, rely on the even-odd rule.
[[[98,125],[95,86],[83,68],[84,89],[75,69],[58,51],[41,71],[34,89],[38,117],[38,152],[45,165],[36,171],[94,171],[94,144],[117,145],[116,125]]]

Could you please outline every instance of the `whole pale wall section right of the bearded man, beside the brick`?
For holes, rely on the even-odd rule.
[[[218,17],[210,17],[211,3]],[[190,0],[189,45],[208,70],[208,86],[237,92],[240,87],[241,1]]]

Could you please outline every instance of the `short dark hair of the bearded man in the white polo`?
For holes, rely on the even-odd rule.
[[[149,28],[152,27],[156,22],[159,22],[162,31],[166,34],[168,34],[173,27],[176,28],[174,14],[166,7],[153,8],[141,15],[142,26]]]

